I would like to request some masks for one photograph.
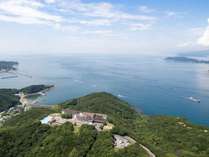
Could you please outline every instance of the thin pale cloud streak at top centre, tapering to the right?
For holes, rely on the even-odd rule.
[[[121,11],[117,6],[107,3],[83,3],[79,0],[64,1],[58,4],[66,12],[73,12],[83,16],[95,18],[108,18],[119,20],[155,20],[155,17],[147,15],[135,15]]]

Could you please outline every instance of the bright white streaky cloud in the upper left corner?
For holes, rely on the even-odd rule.
[[[0,20],[21,24],[59,23],[63,18],[39,10],[42,3],[31,0],[7,0],[0,2]]]

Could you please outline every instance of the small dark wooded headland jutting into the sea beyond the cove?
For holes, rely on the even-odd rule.
[[[24,94],[33,94],[38,93],[40,91],[46,90],[53,87],[52,85],[31,85],[25,88],[20,89],[20,92]]]

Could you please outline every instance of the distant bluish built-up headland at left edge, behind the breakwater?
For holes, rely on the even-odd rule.
[[[18,62],[14,61],[0,61],[0,72],[9,72],[17,70]]]

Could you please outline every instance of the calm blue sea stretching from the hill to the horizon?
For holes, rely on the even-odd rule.
[[[175,115],[209,126],[209,65],[167,62],[154,57],[68,56],[0,58],[20,62],[33,76],[0,80],[1,88],[54,84],[41,98],[55,104],[96,91],[111,92],[149,115]],[[186,99],[201,99],[194,103]]]

